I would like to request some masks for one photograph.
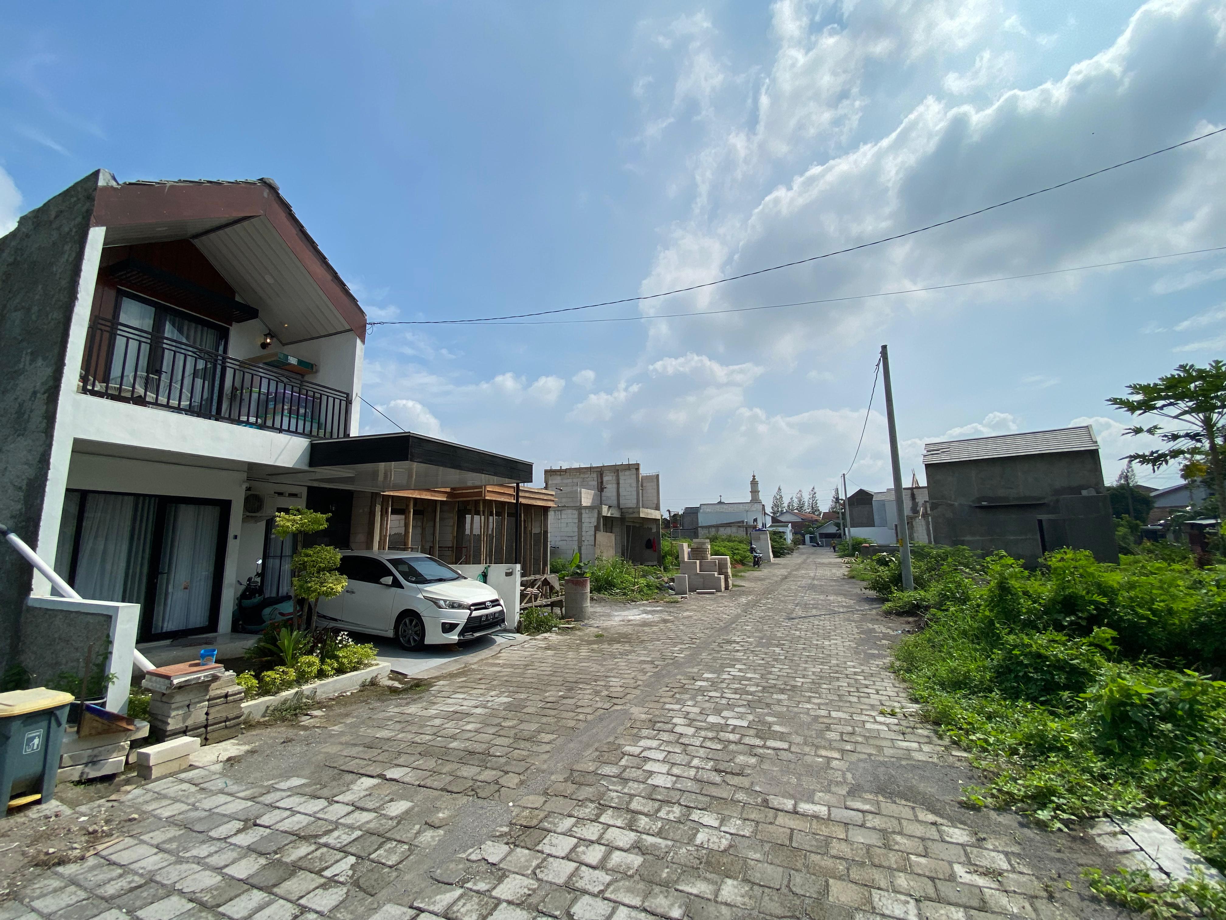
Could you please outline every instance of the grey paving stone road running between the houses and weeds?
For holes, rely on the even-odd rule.
[[[85,806],[136,819],[0,920],[1119,916],[1085,838],[958,805],[973,772],[888,671],[902,622],[828,551],[747,581]]]

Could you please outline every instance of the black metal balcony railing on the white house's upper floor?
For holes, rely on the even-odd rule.
[[[81,391],[287,434],[349,433],[343,390],[105,318],[89,324]]]

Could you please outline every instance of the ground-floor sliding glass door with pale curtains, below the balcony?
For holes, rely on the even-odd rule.
[[[56,570],[82,597],[141,605],[142,642],[217,628],[229,502],[69,489]]]

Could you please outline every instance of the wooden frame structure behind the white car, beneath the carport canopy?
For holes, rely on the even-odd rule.
[[[522,575],[549,572],[552,489],[515,486],[385,492],[373,516],[378,550],[424,552],[454,565],[514,564]],[[519,513],[516,512],[519,509]],[[519,523],[517,523],[519,521]]]

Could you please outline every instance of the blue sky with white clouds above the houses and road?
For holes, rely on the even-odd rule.
[[[0,229],[87,172],[275,178],[371,319],[570,307],[973,210],[1226,124],[1221,1],[125,4],[0,11]],[[591,316],[1226,245],[1226,135],[902,243]],[[890,345],[924,440],[1090,420],[1226,346],[1226,254],[810,308],[384,326],[365,395],[663,503],[829,496]],[[878,393],[851,480],[885,487]],[[364,412],[364,428],[391,426]],[[1173,472],[1143,473],[1155,485]]]

